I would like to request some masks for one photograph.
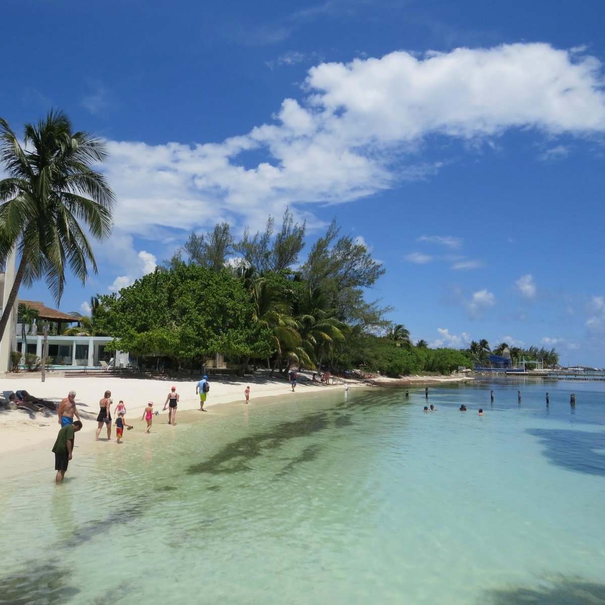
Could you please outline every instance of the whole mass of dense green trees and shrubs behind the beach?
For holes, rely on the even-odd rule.
[[[132,355],[168,357],[172,367],[200,367],[214,353],[286,374],[290,367],[364,370],[386,376],[450,374],[489,355],[487,341],[468,350],[411,342],[391,309],[367,302],[384,273],[363,243],[339,236],[332,221],[306,260],[304,224],[289,210],[281,229],[235,241],[226,223],[192,233],[164,266],[119,295],[101,296],[94,326]],[[275,234],[274,234],[275,232]],[[298,266],[299,270],[292,267]]]

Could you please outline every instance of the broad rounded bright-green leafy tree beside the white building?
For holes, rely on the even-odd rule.
[[[253,321],[249,293],[224,270],[197,264],[156,270],[100,303],[99,327],[116,336],[117,349],[166,355],[178,367],[214,353],[266,358],[273,352],[269,330]]]

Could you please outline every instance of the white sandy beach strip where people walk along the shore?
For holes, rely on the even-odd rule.
[[[442,382],[459,382],[466,377],[420,377],[413,376],[405,380],[374,379],[374,385],[430,385]],[[347,381],[351,388],[371,387],[364,381]],[[211,390],[204,408],[209,412],[200,413],[200,422],[212,414],[212,407],[219,404],[241,402],[244,406],[244,389],[250,385],[250,404],[255,399],[274,397],[275,403],[284,401],[286,397],[296,397],[301,393],[318,391],[329,392],[342,390],[342,384],[324,385],[312,382],[310,374],[299,373],[299,382],[295,393],[292,393],[290,384],[281,376],[269,376],[269,372],[258,372],[254,376],[243,379],[238,376],[210,377]],[[199,410],[200,400],[195,394],[197,381],[166,378],[122,378],[121,376],[90,376],[84,378],[57,377],[50,374],[45,382],[39,379],[4,378],[0,379],[0,391],[25,389],[41,399],[60,401],[70,390],[76,391],[76,404],[82,419],[82,430],[76,437],[76,453],[74,459],[82,454],[94,453],[106,444],[106,430],[102,428],[100,439],[94,441],[94,431],[97,429],[96,417],[99,413],[99,400],[105,390],[111,391],[114,402],[112,411],[120,399],[126,405],[126,422],[134,425],[134,430],[125,432],[125,441],[134,443],[143,434],[145,422],[140,419],[148,401],[154,402],[154,410],[159,416],[154,416],[152,432],[178,430],[178,413],[187,410]],[[168,410],[162,411],[164,402],[172,385],[177,387],[180,395],[177,411],[177,427],[167,424]],[[57,415],[51,411],[30,412],[27,410],[5,410],[0,408],[0,454],[10,460],[10,464],[0,469],[0,479],[27,473],[29,470],[49,468],[52,475],[53,460],[50,450],[59,430]],[[116,431],[112,428],[112,440],[115,441]],[[134,437],[134,439],[133,439]]]

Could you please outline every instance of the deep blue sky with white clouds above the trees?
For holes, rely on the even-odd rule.
[[[116,191],[82,310],[289,204],[336,215],[413,339],[554,346],[605,366],[600,2],[8,0],[0,115],[108,141]],[[43,284],[22,298],[53,304]]]

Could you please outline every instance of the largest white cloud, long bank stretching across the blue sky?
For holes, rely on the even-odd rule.
[[[605,131],[602,82],[597,59],[548,44],[322,63],[309,70],[301,98],[285,99],[271,123],[241,136],[108,142],[116,227],[142,237],[224,220],[255,228],[287,204],[356,200],[425,166],[417,153],[429,135],[471,142],[520,128],[590,136]],[[256,157],[252,165],[243,152]]]

